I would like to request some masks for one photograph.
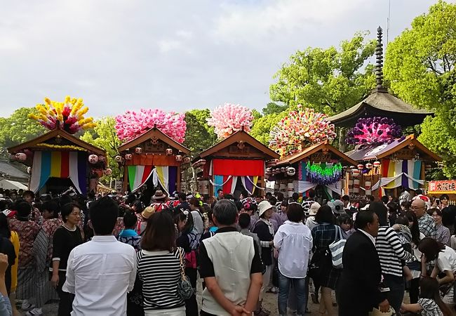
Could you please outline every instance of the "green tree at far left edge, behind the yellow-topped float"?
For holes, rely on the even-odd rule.
[[[10,117],[0,117],[0,146],[1,156],[6,157],[6,148],[42,135],[47,130],[29,114],[38,114],[34,107],[20,107]]]

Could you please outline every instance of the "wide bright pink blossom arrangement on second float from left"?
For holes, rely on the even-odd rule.
[[[116,116],[116,131],[120,140],[129,141],[140,136],[154,125],[177,143],[185,140],[185,114],[163,112],[159,109],[141,109],[139,112],[127,111]]]

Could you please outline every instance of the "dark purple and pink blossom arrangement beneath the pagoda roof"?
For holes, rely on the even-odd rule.
[[[361,117],[345,141],[352,145],[380,145],[401,138],[401,126],[387,117]]]

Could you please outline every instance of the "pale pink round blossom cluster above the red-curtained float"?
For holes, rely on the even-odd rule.
[[[242,128],[249,132],[252,126],[252,111],[242,105],[225,103],[210,111],[208,125],[214,127],[218,138],[227,138]]]

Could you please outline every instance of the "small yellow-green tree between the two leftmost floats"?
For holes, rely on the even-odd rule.
[[[97,126],[94,129],[86,131],[80,137],[81,140],[102,148],[106,151],[108,156],[108,166],[112,169],[112,178],[122,178],[122,171],[119,168],[119,164],[116,162],[116,155],[118,154],[118,148],[122,145],[121,140],[117,137],[116,120],[114,117],[103,117],[95,121]]]

